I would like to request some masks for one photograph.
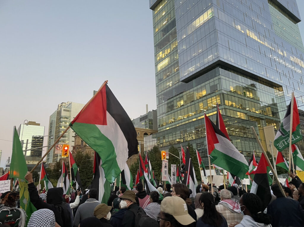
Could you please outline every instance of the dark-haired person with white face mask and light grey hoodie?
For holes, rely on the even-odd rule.
[[[256,194],[243,194],[240,198],[240,208],[244,217],[235,227],[271,227],[271,217],[263,213],[262,201]]]

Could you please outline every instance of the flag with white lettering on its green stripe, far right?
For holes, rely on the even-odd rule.
[[[299,111],[297,107],[297,102],[295,97],[293,97],[293,116],[292,116],[292,144],[300,141],[302,139],[302,135],[300,132],[300,118]],[[275,135],[275,140],[273,144],[277,148],[278,151],[282,151],[285,148],[289,147],[289,130],[290,130],[290,114],[291,114],[291,101],[287,108],[287,112],[283,121],[281,122],[280,129]]]

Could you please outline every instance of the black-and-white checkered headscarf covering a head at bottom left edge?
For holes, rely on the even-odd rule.
[[[55,227],[54,212],[49,209],[35,211],[29,218],[27,227]]]

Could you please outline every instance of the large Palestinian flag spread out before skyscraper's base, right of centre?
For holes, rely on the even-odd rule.
[[[244,179],[249,170],[243,154],[205,114],[206,143],[211,162],[233,175]]]

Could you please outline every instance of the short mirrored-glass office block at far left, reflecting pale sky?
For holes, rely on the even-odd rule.
[[[28,121],[26,124],[20,124],[18,134],[22,145],[22,150],[26,151],[26,160],[29,157],[41,158],[44,138],[44,126],[35,121]]]

